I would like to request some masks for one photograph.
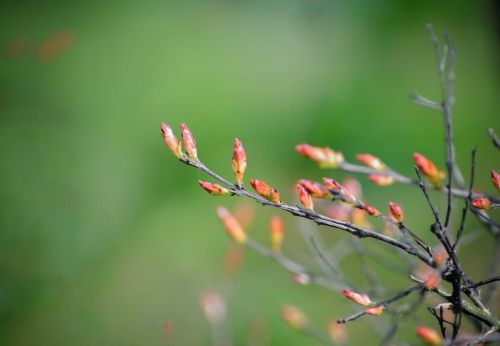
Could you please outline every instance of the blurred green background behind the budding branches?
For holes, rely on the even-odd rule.
[[[441,117],[408,97],[439,98],[427,22],[449,31],[458,51],[459,164],[468,172],[477,146],[476,186],[492,192],[488,173],[500,168],[486,135],[487,127],[500,132],[494,4],[2,2],[0,344],[211,344],[198,297],[223,280],[230,241],[215,208],[238,201],[198,187],[201,174],[165,149],[160,122],[188,123],[200,157],[227,177],[238,136],[247,175],[279,187],[292,203],[298,178],[345,176],[301,159],[293,150],[301,142],[329,145],[350,160],[368,151],[408,175],[414,151],[443,167]],[[431,215],[415,188],[360,180],[372,204],[385,210],[398,201],[412,228],[432,239]],[[265,241],[270,215],[256,207],[249,232],[257,239]],[[285,252],[307,261],[297,235],[303,225],[284,217]],[[492,242],[469,221],[478,237],[461,256],[481,279]],[[329,244],[343,237],[320,231]],[[346,268],[362,280],[355,256]],[[408,285],[380,275],[388,286]],[[316,345],[280,320],[283,303],[321,328],[352,311],[325,289],[292,284],[253,253],[231,287],[228,329],[236,345],[252,338]],[[411,338],[409,325],[403,335]],[[354,344],[373,340],[363,322],[348,331]]]

